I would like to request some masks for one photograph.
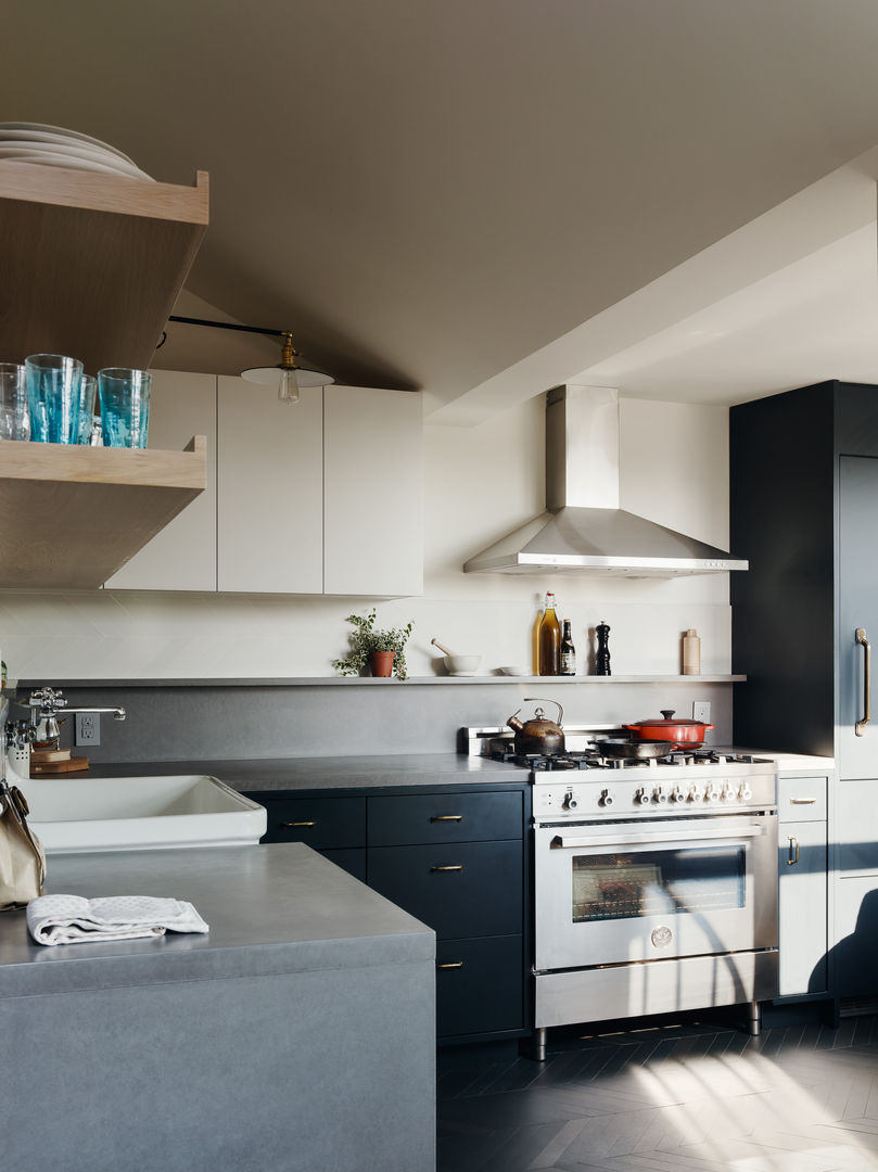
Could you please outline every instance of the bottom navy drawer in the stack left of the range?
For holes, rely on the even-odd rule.
[[[436,1034],[520,1030],[524,955],[520,936],[436,943]]]

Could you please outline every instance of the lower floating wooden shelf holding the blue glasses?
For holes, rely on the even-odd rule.
[[[0,587],[103,585],[204,491],[206,451],[0,441]]]

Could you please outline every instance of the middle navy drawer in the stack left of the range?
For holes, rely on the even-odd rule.
[[[520,841],[370,846],[367,874],[440,939],[522,932]]]

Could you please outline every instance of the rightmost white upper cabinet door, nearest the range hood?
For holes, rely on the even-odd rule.
[[[423,591],[421,396],[325,388],[327,594]]]

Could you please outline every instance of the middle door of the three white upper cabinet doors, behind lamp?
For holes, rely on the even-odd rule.
[[[217,584],[220,591],[324,588],[322,390],[292,406],[271,387],[220,376]]]

